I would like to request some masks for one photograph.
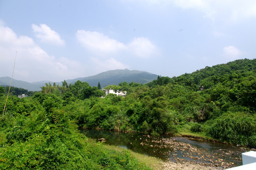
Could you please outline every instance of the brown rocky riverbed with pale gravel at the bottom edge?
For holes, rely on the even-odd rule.
[[[154,138],[147,136],[141,145],[149,145],[156,148],[169,148],[168,152],[162,153],[168,157],[165,161],[165,170],[222,170],[242,164],[241,153],[246,148],[235,147],[234,150],[203,148],[180,141],[179,137]],[[153,138],[152,138],[153,139]],[[189,139],[188,139],[189,140]],[[186,141],[188,142],[188,141]],[[191,142],[193,143],[193,141]],[[203,143],[202,143],[203,144]]]

